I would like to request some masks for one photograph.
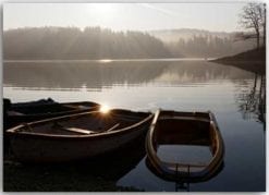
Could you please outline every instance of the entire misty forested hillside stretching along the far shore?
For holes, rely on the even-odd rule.
[[[113,32],[108,28],[27,27],[3,33],[4,60],[46,59],[148,59],[182,57],[223,57],[253,47],[253,42],[233,41],[232,37],[192,35],[166,42],[142,32]]]

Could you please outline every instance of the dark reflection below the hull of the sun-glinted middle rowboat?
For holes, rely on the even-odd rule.
[[[146,133],[143,133],[131,143],[111,153],[90,160],[74,162],[80,164],[76,169],[85,175],[117,182],[133,170],[145,157],[145,137]]]

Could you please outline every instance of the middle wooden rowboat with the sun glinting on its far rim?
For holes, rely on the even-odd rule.
[[[152,113],[91,111],[21,124],[7,131],[22,162],[63,162],[124,147],[147,131]]]

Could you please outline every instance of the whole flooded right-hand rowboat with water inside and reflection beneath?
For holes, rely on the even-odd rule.
[[[174,181],[176,191],[188,191],[189,183],[208,181],[223,168],[224,144],[211,112],[158,110],[147,134],[146,149],[149,170]]]

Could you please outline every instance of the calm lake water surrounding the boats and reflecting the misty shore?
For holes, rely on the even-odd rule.
[[[199,60],[3,65],[3,96],[13,102],[51,97],[57,101],[90,100],[112,108],[146,111],[211,110],[225,144],[224,167],[207,182],[191,183],[189,191],[265,191],[264,81],[265,76],[252,72]],[[193,150],[203,154],[199,160],[210,158],[208,148]],[[179,160],[176,154],[187,149],[163,146],[158,153],[164,159]],[[117,185],[175,191],[175,183],[156,176],[145,159],[115,181]]]

